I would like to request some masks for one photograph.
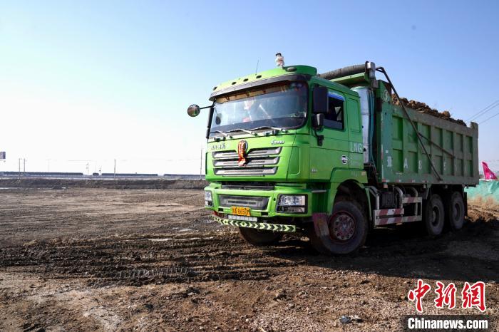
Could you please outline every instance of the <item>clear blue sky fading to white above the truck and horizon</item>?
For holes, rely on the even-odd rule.
[[[374,61],[398,93],[470,118],[499,99],[498,1],[0,1],[0,170],[199,172],[214,85]],[[499,113],[499,107],[483,117]],[[499,116],[480,160],[499,170]]]

